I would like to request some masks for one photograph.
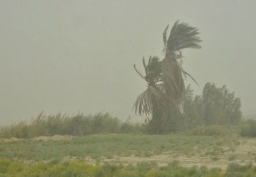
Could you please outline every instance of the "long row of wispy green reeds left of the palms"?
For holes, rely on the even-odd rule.
[[[0,130],[1,138],[31,138],[53,135],[93,135],[107,133],[145,133],[142,125],[121,122],[108,113],[46,115],[41,112],[30,121],[21,121]]]

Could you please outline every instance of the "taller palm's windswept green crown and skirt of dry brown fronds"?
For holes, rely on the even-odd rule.
[[[184,48],[201,48],[199,45],[201,40],[197,36],[199,34],[197,28],[183,22],[179,23],[179,20],[172,27],[168,39],[166,38],[167,30],[168,26],[163,34],[165,57],[162,61],[162,77],[164,91],[170,102],[179,104],[185,95],[183,75],[189,75],[178,61],[182,57],[181,50]],[[191,78],[193,79],[193,77]]]

